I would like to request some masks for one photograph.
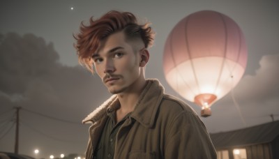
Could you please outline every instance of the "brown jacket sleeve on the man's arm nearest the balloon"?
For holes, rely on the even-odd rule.
[[[217,158],[209,134],[197,114],[183,111],[170,122],[165,158]]]

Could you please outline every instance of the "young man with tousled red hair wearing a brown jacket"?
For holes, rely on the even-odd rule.
[[[132,13],[110,11],[80,27],[77,55],[113,94],[83,123],[91,123],[86,159],[216,158],[204,123],[186,103],[145,79],[154,32]]]

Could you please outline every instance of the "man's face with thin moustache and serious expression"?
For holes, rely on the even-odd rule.
[[[128,93],[140,77],[141,40],[126,42],[124,33],[118,32],[103,40],[92,58],[96,73],[110,93]]]

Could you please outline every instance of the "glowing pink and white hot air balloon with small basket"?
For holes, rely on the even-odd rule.
[[[203,10],[183,18],[167,38],[164,72],[181,96],[211,115],[211,105],[241,79],[247,63],[243,33],[231,18]]]

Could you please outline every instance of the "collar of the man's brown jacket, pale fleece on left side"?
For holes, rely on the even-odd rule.
[[[164,88],[157,79],[147,79],[147,84],[142,91],[134,111],[130,117],[140,122],[146,128],[151,128],[155,121],[156,112],[164,95]],[[116,95],[111,96],[100,107],[89,114],[82,123],[95,123],[100,120],[107,111],[119,107],[119,100]]]

